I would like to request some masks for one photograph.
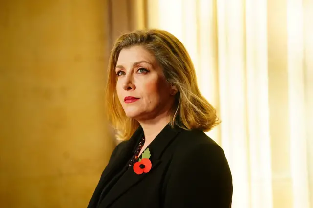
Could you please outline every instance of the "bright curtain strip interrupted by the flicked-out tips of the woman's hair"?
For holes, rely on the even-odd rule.
[[[218,89],[218,54],[217,27],[215,17],[215,0],[200,0],[198,4],[198,39],[199,49],[198,76],[199,87],[203,96],[215,107],[219,113]],[[221,144],[220,126],[206,132],[206,134]]]

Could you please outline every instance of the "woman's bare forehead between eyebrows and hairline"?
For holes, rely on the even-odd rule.
[[[143,46],[132,46],[121,50],[117,59],[117,65],[127,65],[140,61],[146,61],[154,64],[156,62],[156,58]]]

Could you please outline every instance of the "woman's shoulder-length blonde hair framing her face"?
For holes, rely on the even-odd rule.
[[[219,124],[216,110],[199,91],[194,65],[183,44],[174,35],[163,30],[137,30],[123,34],[116,40],[109,59],[106,115],[117,130],[119,139],[129,139],[139,127],[136,120],[126,116],[116,95],[115,67],[119,53],[123,48],[135,45],[143,46],[154,54],[163,68],[166,80],[179,90],[173,106],[171,127],[178,125],[186,130],[209,131]]]

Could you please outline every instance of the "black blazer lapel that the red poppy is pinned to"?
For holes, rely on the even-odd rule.
[[[139,129],[142,128],[139,127]],[[169,125],[166,125],[163,130],[156,136],[156,138],[151,142],[151,144],[147,147],[150,150],[150,160],[152,163],[151,170],[148,173],[142,173],[140,175],[136,174],[133,170],[133,167],[130,167],[124,175],[117,181],[117,183],[112,187],[108,195],[106,196],[106,200],[100,203],[100,208],[109,207],[115,200],[117,200],[122,194],[124,194],[131,187],[139,183],[147,174],[161,163],[161,156],[166,147],[173,141],[176,135],[179,133],[180,128],[172,129]],[[137,130],[138,131],[138,130]],[[137,139],[138,140],[138,139]],[[130,156],[131,157],[131,156]],[[127,158],[129,160],[130,158]],[[122,168],[121,168],[122,169]]]

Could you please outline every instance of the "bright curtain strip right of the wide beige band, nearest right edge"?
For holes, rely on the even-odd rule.
[[[293,208],[309,208],[303,74],[302,0],[287,0],[288,98]]]

